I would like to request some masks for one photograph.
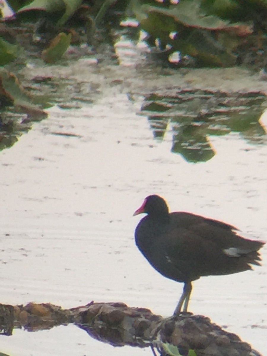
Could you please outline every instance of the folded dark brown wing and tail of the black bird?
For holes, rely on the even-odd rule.
[[[249,264],[260,265],[257,251],[264,242],[244,239],[236,234],[234,226],[220,221],[194,214],[174,216],[166,244],[166,254],[174,264],[187,260],[203,276],[244,271],[251,268]]]

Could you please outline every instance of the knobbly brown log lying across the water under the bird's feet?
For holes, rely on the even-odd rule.
[[[12,306],[0,305],[1,320],[5,311],[10,310],[7,307]],[[130,308],[124,303],[91,302],[71,309],[49,303],[28,303],[12,308],[14,327],[28,331],[72,323],[101,342],[113,346],[153,346],[160,355],[167,355],[164,345],[171,344],[178,347],[181,355],[194,350],[197,356],[260,356],[238,335],[223,330],[203,315],[180,313],[163,318],[149,309]],[[1,327],[9,328],[10,332],[11,320],[8,323],[9,326],[2,323]]]

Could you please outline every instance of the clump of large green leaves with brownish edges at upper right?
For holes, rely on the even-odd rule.
[[[182,0],[178,4],[132,2],[132,10],[149,41],[171,55],[179,51],[180,65],[234,66],[252,63],[266,46],[266,1]],[[172,36],[170,36],[172,33]],[[262,36],[263,35],[263,36]],[[247,51],[255,46],[247,58]]]

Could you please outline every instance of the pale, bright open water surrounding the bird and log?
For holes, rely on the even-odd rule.
[[[133,212],[156,193],[171,210],[223,220],[266,241],[267,147],[238,132],[210,136],[213,158],[188,163],[171,152],[171,128],[158,141],[150,121],[140,115],[141,83],[131,96],[125,82],[114,84],[118,69],[110,69],[116,75],[106,82],[108,68],[105,74],[100,69],[86,79],[98,80],[99,71],[93,104],[71,110],[53,106],[47,120],[1,152],[1,303],[70,308],[91,300],[120,301],[168,316],[182,284],[159,275],[137,250],[133,232],[140,217]],[[151,89],[151,83],[144,85]],[[189,310],[209,316],[264,353],[266,247],[262,257],[263,266],[253,272],[194,282]],[[151,352],[101,344],[73,325],[35,333],[16,329],[11,337],[1,336],[0,351],[12,356]]]

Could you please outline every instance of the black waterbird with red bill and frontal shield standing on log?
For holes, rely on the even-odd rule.
[[[184,211],[169,212],[164,198],[149,195],[133,216],[147,214],[135,229],[135,243],[164,277],[183,282],[174,315],[188,312],[192,281],[261,266],[263,241],[245,239],[235,226]],[[182,310],[183,309],[183,310]]]

